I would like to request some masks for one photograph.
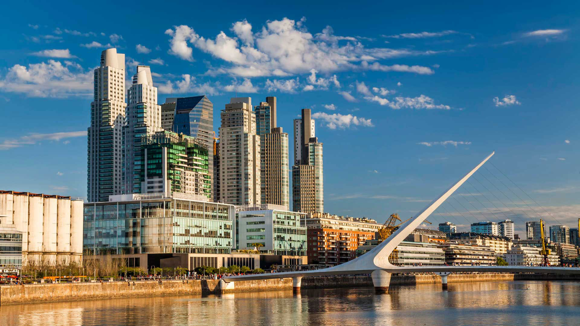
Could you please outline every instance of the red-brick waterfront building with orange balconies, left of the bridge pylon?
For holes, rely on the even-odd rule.
[[[367,218],[309,213],[306,215],[308,263],[335,266],[355,258],[356,249],[375,238],[383,226]]]

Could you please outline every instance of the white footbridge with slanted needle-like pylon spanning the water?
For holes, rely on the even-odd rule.
[[[222,290],[233,289],[236,281],[266,280],[272,278],[292,278],[293,288],[298,291],[302,277],[327,276],[345,274],[371,274],[372,282],[377,292],[389,289],[391,273],[426,273],[432,272],[441,276],[443,288],[447,288],[447,276],[453,272],[501,272],[501,273],[549,273],[549,274],[580,274],[578,267],[540,267],[540,266],[394,266],[389,262],[389,255],[401,241],[433,213],[451,194],[470,178],[495,152],[491,153],[475,168],[467,173],[453,186],[449,187],[436,200],[420,211],[414,218],[403,223],[398,230],[377,247],[364,255],[338,266],[319,270],[288,271],[283,273],[252,274],[223,277]]]

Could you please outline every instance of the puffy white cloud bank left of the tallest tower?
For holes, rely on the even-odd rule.
[[[0,88],[30,97],[89,96],[93,93],[93,73],[71,61],[48,60],[28,67],[15,64],[0,79]]]

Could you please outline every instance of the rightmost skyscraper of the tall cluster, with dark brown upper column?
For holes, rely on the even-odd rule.
[[[294,120],[295,164],[292,166],[292,210],[302,213],[324,211],[322,143],[314,136],[310,109],[302,109]]]

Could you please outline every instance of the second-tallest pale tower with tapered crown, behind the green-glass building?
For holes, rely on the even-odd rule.
[[[142,137],[162,130],[161,106],[157,104],[157,87],[153,86],[149,66],[137,66],[127,102],[123,127],[123,192],[139,194],[142,192],[139,171]]]

